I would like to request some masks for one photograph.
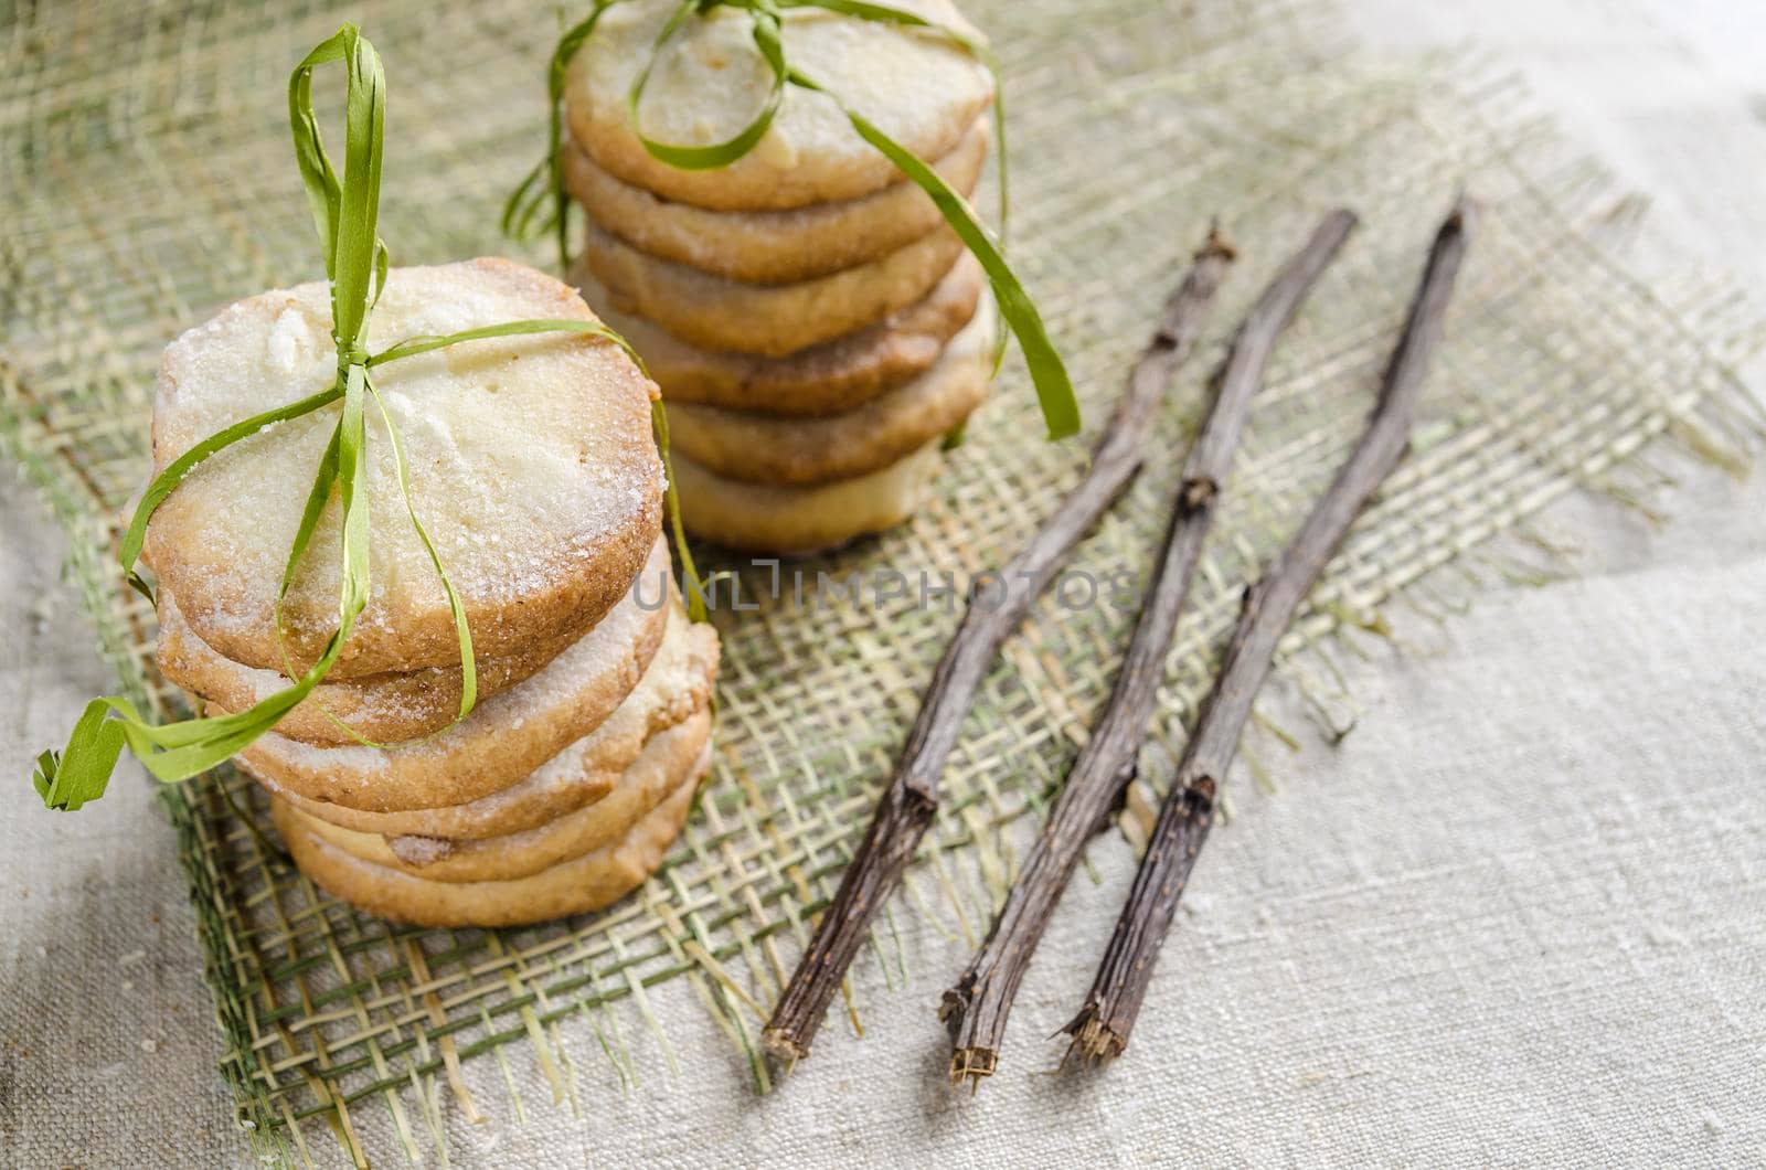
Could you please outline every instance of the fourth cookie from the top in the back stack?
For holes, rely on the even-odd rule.
[[[964,253],[932,292],[906,309],[855,334],[789,357],[701,350],[643,316],[620,313],[613,297],[581,262],[570,281],[604,322],[645,359],[662,396],[781,417],[841,414],[925,373],[945,343],[975,318],[987,277]]]

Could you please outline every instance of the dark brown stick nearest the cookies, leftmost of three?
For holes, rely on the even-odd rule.
[[[846,969],[871,930],[871,919],[901,884],[920,838],[938,809],[938,779],[957,742],[957,732],[970,712],[975,691],[992,666],[1005,642],[1030,612],[1031,603],[1067,564],[1079,539],[1098,516],[1116,502],[1146,458],[1146,435],[1173,373],[1196,348],[1203,322],[1213,304],[1220,277],[1233,262],[1233,247],[1213,230],[1196,253],[1183,283],[1166,302],[1158,330],[1128,375],[1128,389],[1098,440],[1084,481],[1061,502],[1060,509],[1031,537],[1003,571],[1003,597],[998,604],[975,604],[962,615],[932,682],[920,700],[895,774],[883,790],[871,831],[865,832],[841,889],[821,915],[809,949],[796,965],[791,983],[763,1041],[777,1057],[809,1055],[816,1029],[834,1000]]]

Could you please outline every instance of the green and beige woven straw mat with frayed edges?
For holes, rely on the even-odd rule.
[[[1181,744],[1243,581],[1362,426],[1429,235],[1462,182],[1489,216],[1416,452],[1284,645],[1280,684],[1340,721],[1330,709],[1353,700],[1330,682],[1326,638],[1381,633],[1379,606],[1399,590],[1441,613],[1492,569],[1529,573],[1513,550],[1528,518],[1565,491],[1646,507],[1664,437],[1743,463],[1757,422],[1727,369],[1759,345],[1757,322],[1718,283],[1644,288],[1616,267],[1611,247],[1635,207],[1563,156],[1512,78],[1459,60],[1370,71],[1330,7],[1303,0],[971,7],[1012,97],[1014,255],[1093,424],[1210,217],[1243,249],[1150,467],[1081,546],[1075,564],[1095,578],[1144,578],[1208,366],[1270,270],[1330,205],[1363,217],[1277,352],[1180,627],[1158,751]],[[72,536],[72,573],[124,689],[171,716],[182,702],[152,670],[152,613],[115,569],[118,511],[147,468],[161,346],[228,300],[320,274],[283,80],[339,14],[230,0],[11,11],[0,429]],[[390,76],[383,232],[396,263],[523,255],[494,223],[542,138],[547,5],[371,0],[348,14]],[[334,76],[323,85],[327,101],[341,88]],[[696,983],[765,1085],[763,1011],[955,626],[938,597],[918,608],[917,574],[936,583],[1001,564],[1083,460],[1081,444],[1040,442],[1012,361],[925,511],[802,564],[802,601],[789,567],[784,596],[768,599],[770,569],[703,550],[701,567],[738,567],[743,604],[758,604],[715,617],[726,638],[715,772],[668,868],[604,914],[500,933],[394,928],[302,880],[231,769],[166,790],[230,1046],[223,1075],[261,1152],[304,1158],[328,1128],[357,1159],[392,1154],[357,1136],[366,1112],[389,1110],[397,1152],[417,1159],[438,1140],[438,1110],[493,1105],[482,1098],[494,1076],[473,1078],[473,1103],[459,1071],[486,1055],[537,1060],[574,1099],[556,1037],[593,1034],[620,1066],[620,1037],[659,1027],[645,988],[678,977]],[[816,589],[818,571],[844,580],[878,567],[904,573],[909,597],[855,604]],[[1084,589],[1067,604],[1045,599],[984,688],[927,861],[890,914],[989,917],[1014,822],[1049,799],[1127,640],[1128,610],[1075,597]],[[1254,762],[1268,733],[1250,735]],[[1130,836],[1155,801],[1146,783],[1130,795]],[[876,953],[895,967],[888,938],[885,919]]]

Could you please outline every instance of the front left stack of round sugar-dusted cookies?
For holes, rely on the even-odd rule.
[[[500,260],[396,269],[371,350],[517,318],[593,320],[565,285]],[[159,468],[336,376],[325,285],[242,300],[168,350]],[[687,620],[660,534],[653,387],[577,334],[456,345],[374,369],[410,504],[466,608],[479,703],[447,594],[369,408],[373,592],[325,680],[238,753],[297,864],[387,917],[503,926],[613,901],[660,862],[710,753],[717,634]],[[283,562],[337,408],[210,458],[161,505],[159,663],[210,712],[245,710],[337,624],[337,504],[283,603]]]

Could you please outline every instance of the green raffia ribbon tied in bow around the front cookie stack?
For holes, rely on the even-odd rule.
[[[332,170],[330,157],[325,154],[318,118],[313,113],[313,71],[332,62],[341,62],[348,74],[344,171],[341,180]],[[293,684],[237,714],[154,725],[124,696],[109,695],[92,700],[74,725],[67,748],[60,753],[44,751],[37,756],[32,783],[48,808],[76,809],[87,801],[104,795],[109,776],[117,767],[117,758],[125,746],[154,778],[164,783],[189,779],[221,764],[268,732],[277,719],[311,695],[325,679],[337,663],[337,656],[350,640],[350,633],[355,629],[355,622],[369,599],[366,421],[369,401],[374,403],[392,442],[392,461],[399,493],[404,497],[406,516],[424,550],[429,553],[429,562],[442,580],[442,589],[447,592],[449,608],[454,615],[461,661],[461,698],[456,721],[466,718],[477,702],[477,670],[472,654],[472,631],[466,626],[466,608],[454,583],[449,580],[447,569],[442,566],[442,555],[417,518],[410,495],[410,467],[404,458],[404,445],[392,424],[390,412],[374,389],[371,371],[387,362],[450,345],[540,332],[588,334],[613,341],[630,353],[634,361],[636,353],[632,353],[623,338],[600,322],[583,320],[505,322],[502,325],[466,329],[445,336],[406,338],[380,353],[367,352],[367,316],[380,300],[380,292],[385,288],[387,272],[390,270],[387,246],[376,233],[376,221],[380,217],[380,163],[385,145],[385,92],[387,78],[380,64],[380,55],[353,25],[344,25],[336,35],[307,53],[288,81],[288,122],[295,138],[295,159],[300,166],[300,180],[313,212],[313,224],[318,232],[320,246],[325,249],[325,276],[330,279],[332,339],[337,345],[336,380],[318,394],[235,422],[173,460],[147,486],[118,550],[118,558],[129,583],[152,601],[154,589],[136,569],[136,564],[141,557],[148,520],[178,482],[203,463],[203,460],[267,426],[298,419],[332,403],[341,403],[337,426],[332,429],[330,442],[320,456],[318,474],[307,495],[306,509],[300,514],[293,546],[288,550],[288,562],[283,569],[283,581],[275,599],[275,634],[277,642],[283,643],[286,634],[283,626],[283,601],[313,541],[320,516],[332,495],[336,495],[341,505],[339,528],[343,541],[343,585],[337,599],[337,629],[325,643],[318,659],[298,679],[293,666],[288,665],[284,649],[284,670],[293,679]],[[682,546],[682,557],[683,571],[696,583],[698,578],[692,576],[692,560],[687,557],[685,546]],[[698,590],[689,589],[689,596],[698,601]],[[698,608],[703,613],[703,601],[699,601]],[[357,735],[357,739],[360,737]]]

